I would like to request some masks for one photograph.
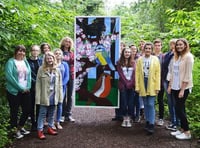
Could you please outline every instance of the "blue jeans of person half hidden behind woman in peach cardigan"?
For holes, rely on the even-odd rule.
[[[165,89],[166,96],[167,96],[168,109],[169,109],[169,115],[170,115],[171,123],[173,125],[179,125],[178,120],[176,118],[176,112],[175,112],[175,100],[173,98],[173,95],[169,94],[167,92],[168,83],[169,83],[168,81],[164,81],[164,89]]]

